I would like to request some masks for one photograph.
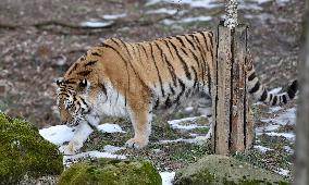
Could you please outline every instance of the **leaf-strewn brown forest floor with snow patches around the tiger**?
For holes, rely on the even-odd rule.
[[[249,25],[255,66],[269,89],[284,88],[297,76],[304,7],[301,0],[239,1],[239,22]],[[140,41],[203,29],[215,32],[224,16],[224,4],[211,0],[1,0],[0,12],[0,110],[42,128],[59,124],[53,81],[87,48],[110,37]],[[200,118],[208,109],[188,108],[198,101],[201,100],[157,116],[146,149],[113,151],[128,158],[151,159],[162,172],[174,172],[196,161],[209,152],[208,146],[191,140],[209,130],[209,125],[200,125],[208,123],[208,116]],[[235,157],[291,180],[296,101],[276,108],[255,103],[252,110],[256,146]],[[187,116],[203,121],[181,122],[197,126],[190,130],[176,128],[168,122]],[[95,132],[83,151],[104,151],[106,145],[122,147],[131,137],[127,121],[109,122],[119,124],[125,133]]]

